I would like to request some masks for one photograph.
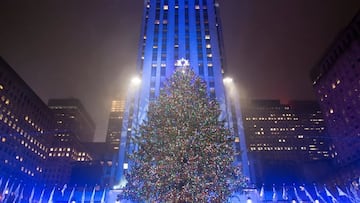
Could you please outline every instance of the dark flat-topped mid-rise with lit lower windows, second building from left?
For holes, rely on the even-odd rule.
[[[73,182],[74,170],[79,171],[79,166],[86,166],[93,160],[94,155],[85,142],[93,140],[95,125],[78,99],[50,99],[48,106],[56,119],[55,137],[49,148],[49,159],[63,165],[59,173],[66,182]],[[82,169],[86,174],[87,170]]]

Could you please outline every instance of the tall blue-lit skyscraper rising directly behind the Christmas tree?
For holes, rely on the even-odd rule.
[[[117,181],[124,180],[124,172],[129,167],[127,154],[133,149],[134,129],[146,120],[149,102],[156,99],[177,65],[190,66],[207,83],[209,96],[216,99],[222,109],[219,119],[225,119],[236,135],[235,159],[242,163],[243,173],[249,175],[239,104],[226,94],[230,90],[223,81],[225,67],[219,17],[216,0],[144,1],[137,67],[141,83],[134,81],[127,96]]]

